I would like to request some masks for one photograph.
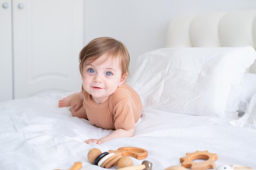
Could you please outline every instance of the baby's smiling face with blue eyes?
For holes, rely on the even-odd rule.
[[[108,55],[102,55],[97,60],[83,67],[83,88],[90,95],[94,102],[101,104],[112,95],[124,83],[122,77],[120,59],[112,59]]]

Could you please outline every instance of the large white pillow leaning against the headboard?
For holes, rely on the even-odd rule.
[[[139,56],[131,86],[146,108],[238,117],[241,80],[255,57],[250,46],[158,49]]]

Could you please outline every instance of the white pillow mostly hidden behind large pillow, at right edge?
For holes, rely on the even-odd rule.
[[[240,115],[245,113],[247,104],[249,104],[252,96],[256,93],[256,74],[245,73],[243,75],[242,86],[242,93],[238,105],[238,113],[240,113]]]

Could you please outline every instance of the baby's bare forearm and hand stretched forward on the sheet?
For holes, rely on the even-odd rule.
[[[106,137],[103,137],[101,139],[88,139],[85,141],[85,143],[86,144],[90,144],[90,143],[102,144],[105,141],[109,141],[109,140],[117,139],[121,137],[133,137],[133,135],[134,135],[134,128],[129,130],[117,129],[117,130],[114,130],[110,135]]]

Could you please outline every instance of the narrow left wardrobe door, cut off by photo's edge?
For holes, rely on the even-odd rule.
[[[0,0],[0,102],[12,99],[11,0]]]

